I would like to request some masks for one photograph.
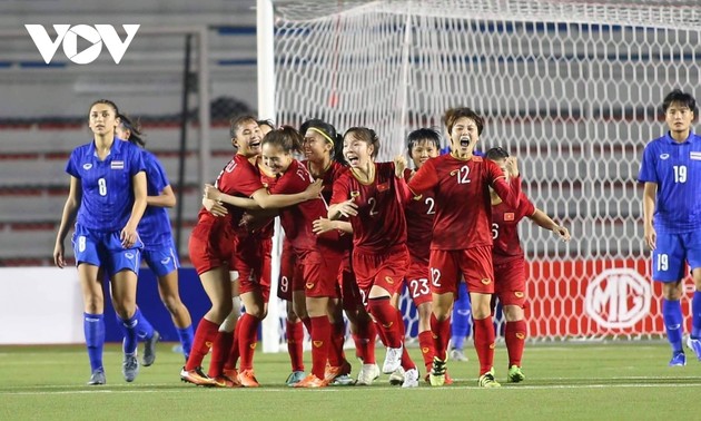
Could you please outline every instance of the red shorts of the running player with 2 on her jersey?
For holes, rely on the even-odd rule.
[[[404,275],[409,266],[406,245],[402,244],[383,254],[353,254],[353,270],[361,290],[363,304],[367,307],[367,296],[374,285],[394,295],[402,287]]]

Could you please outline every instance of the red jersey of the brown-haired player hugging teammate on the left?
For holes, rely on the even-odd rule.
[[[270,178],[264,175],[264,180]],[[304,192],[314,182],[314,178],[298,160],[294,159],[285,174],[268,184],[270,194],[295,194]],[[335,231],[316,235],[313,231],[313,222],[320,217],[327,217],[328,206],[323,198],[302,202],[295,206],[280,209],[280,225],[285,229],[285,237],[289,239],[296,252],[316,249],[338,242],[338,233]]]

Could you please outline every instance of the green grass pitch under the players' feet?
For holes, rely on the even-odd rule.
[[[455,384],[403,390],[381,376],[372,386],[297,390],[284,385],[286,353],[255,359],[259,389],[204,389],[181,383],[180,355],[159,343],[156,364],[134,383],[121,378],[119,346],[105,352],[107,384],[86,386],[82,346],[0,347],[0,420],[677,420],[699,419],[701,362],[669,368],[663,342],[526,346],[526,381],[505,381],[506,353],[497,346],[501,389],[478,389],[476,355],[448,362]],[[412,356],[421,361],[417,349]],[[350,351],[352,353],[352,351]],[[305,355],[307,369],[309,354]],[[382,363],[384,350],[377,349]],[[357,373],[358,362],[353,373]],[[423,365],[423,364],[422,364]],[[422,370],[423,371],[423,370]],[[423,373],[422,373],[423,376]]]

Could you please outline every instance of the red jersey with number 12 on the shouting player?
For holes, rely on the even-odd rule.
[[[428,159],[418,169],[408,187],[416,194],[433,189],[436,215],[431,249],[492,245],[490,186],[515,206],[521,184],[510,187],[502,169],[490,159],[473,156],[463,160],[448,154]]]

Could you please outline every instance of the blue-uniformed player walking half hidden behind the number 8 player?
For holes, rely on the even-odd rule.
[[[117,137],[129,140],[136,146],[145,147],[146,141],[142,138],[140,127],[135,125],[124,114],[118,117]],[[148,207],[138,228],[139,236],[144,243],[142,258],[158,277],[158,294],[170,313],[172,323],[178,332],[185,360],[187,361],[192,347],[195,333],[192,332],[190,312],[182,304],[178,293],[178,267],[180,267],[180,262],[178,252],[172,243],[170,218],[166,210],[166,207],[175,206],[176,197],[166,175],[166,169],[158,158],[148,150],[144,150],[144,165],[146,166],[148,192],[146,203]],[[142,363],[148,366],[156,359],[156,342],[158,342],[160,334],[154,330],[146,319],[139,321],[138,330],[139,337],[145,340]]]

